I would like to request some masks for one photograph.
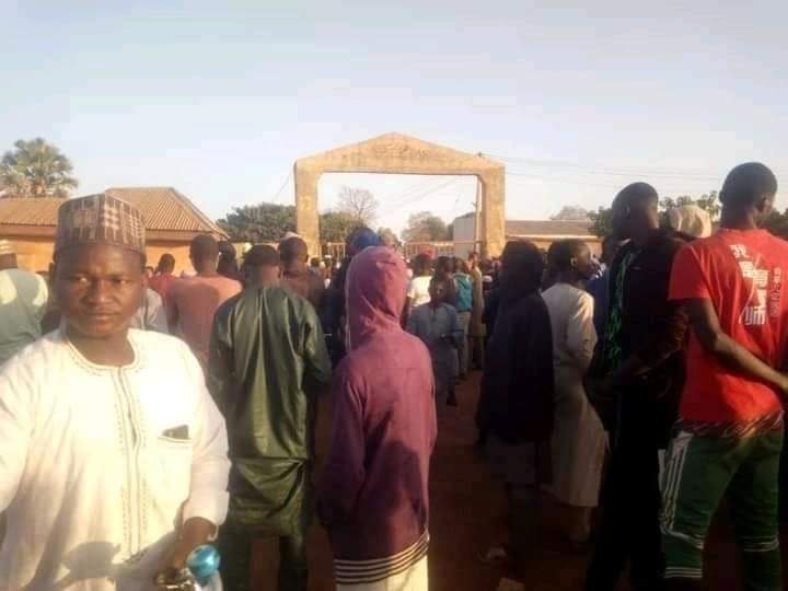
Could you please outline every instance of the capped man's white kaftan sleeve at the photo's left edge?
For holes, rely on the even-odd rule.
[[[32,375],[19,363],[0,366],[0,512],[16,496],[35,424]]]

